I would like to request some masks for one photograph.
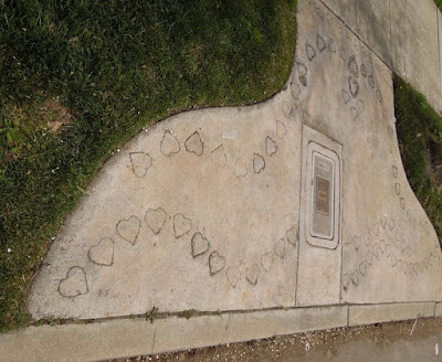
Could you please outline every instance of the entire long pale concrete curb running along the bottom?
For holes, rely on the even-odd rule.
[[[225,312],[150,323],[126,318],[29,327],[0,337],[0,361],[101,361],[346,326],[434,317],[435,302],[327,306]],[[439,316],[436,313],[436,316]]]

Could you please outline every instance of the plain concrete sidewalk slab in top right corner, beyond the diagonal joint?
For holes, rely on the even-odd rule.
[[[442,110],[441,12],[433,0],[322,0],[396,73]]]

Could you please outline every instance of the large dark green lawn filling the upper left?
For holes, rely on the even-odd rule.
[[[0,0],[0,331],[31,322],[27,291],[51,237],[116,147],[170,114],[282,87],[295,8]]]

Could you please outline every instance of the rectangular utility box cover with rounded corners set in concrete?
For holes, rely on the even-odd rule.
[[[307,147],[307,242],[335,248],[339,241],[339,158],[316,143]]]

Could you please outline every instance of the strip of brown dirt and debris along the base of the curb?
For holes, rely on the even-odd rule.
[[[414,327],[413,327],[414,326]],[[337,348],[349,341],[366,341],[382,349],[398,340],[411,341],[424,339],[442,329],[441,318],[418,319],[411,321],[379,323],[355,328],[274,337],[243,343],[232,343],[198,350],[170,352],[112,360],[112,362],[136,361],[294,361],[319,351],[324,358],[337,355]],[[412,330],[412,333],[410,334]]]

